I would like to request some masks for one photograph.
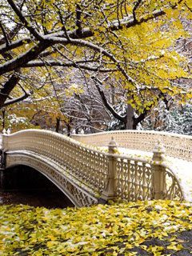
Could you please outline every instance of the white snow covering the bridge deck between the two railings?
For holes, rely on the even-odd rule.
[[[102,149],[107,150],[106,147],[102,147]],[[118,154],[125,154],[131,158],[145,158],[146,160],[151,160],[153,156],[153,153],[148,151],[130,150],[122,147],[118,147]],[[166,156],[165,163],[171,166],[171,169],[178,178],[185,192],[186,200],[192,202],[192,162]]]

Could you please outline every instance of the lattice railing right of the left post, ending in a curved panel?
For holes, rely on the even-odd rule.
[[[170,199],[184,200],[186,195],[174,170],[162,160],[147,161],[115,155],[115,186],[117,199],[127,201]]]

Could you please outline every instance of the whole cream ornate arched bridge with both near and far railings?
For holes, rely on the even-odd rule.
[[[149,155],[121,154],[120,148]],[[119,130],[69,138],[48,130],[21,130],[2,134],[1,169],[33,167],[78,207],[110,199],[186,200],[186,188],[167,158],[191,163],[191,151],[191,136],[154,131]]]

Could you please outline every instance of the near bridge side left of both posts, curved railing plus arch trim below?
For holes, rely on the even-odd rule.
[[[108,158],[79,142],[47,130],[22,130],[2,135],[6,168],[17,164],[46,174],[75,205],[97,202],[107,183]]]

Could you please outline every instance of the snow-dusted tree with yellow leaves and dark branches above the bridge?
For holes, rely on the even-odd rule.
[[[29,97],[36,76],[61,85],[69,68],[71,75],[86,70],[100,94],[108,86],[103,77],[115,78],[114,87],[125,90],[127,129],[159,98],[191,98],[174,83],[189,77],[175,45],[190,36],[183,27],[192,18],[190,0],[2,0],[0,6],[0,107]],[[16,98],[15,88],[22,90]]]

